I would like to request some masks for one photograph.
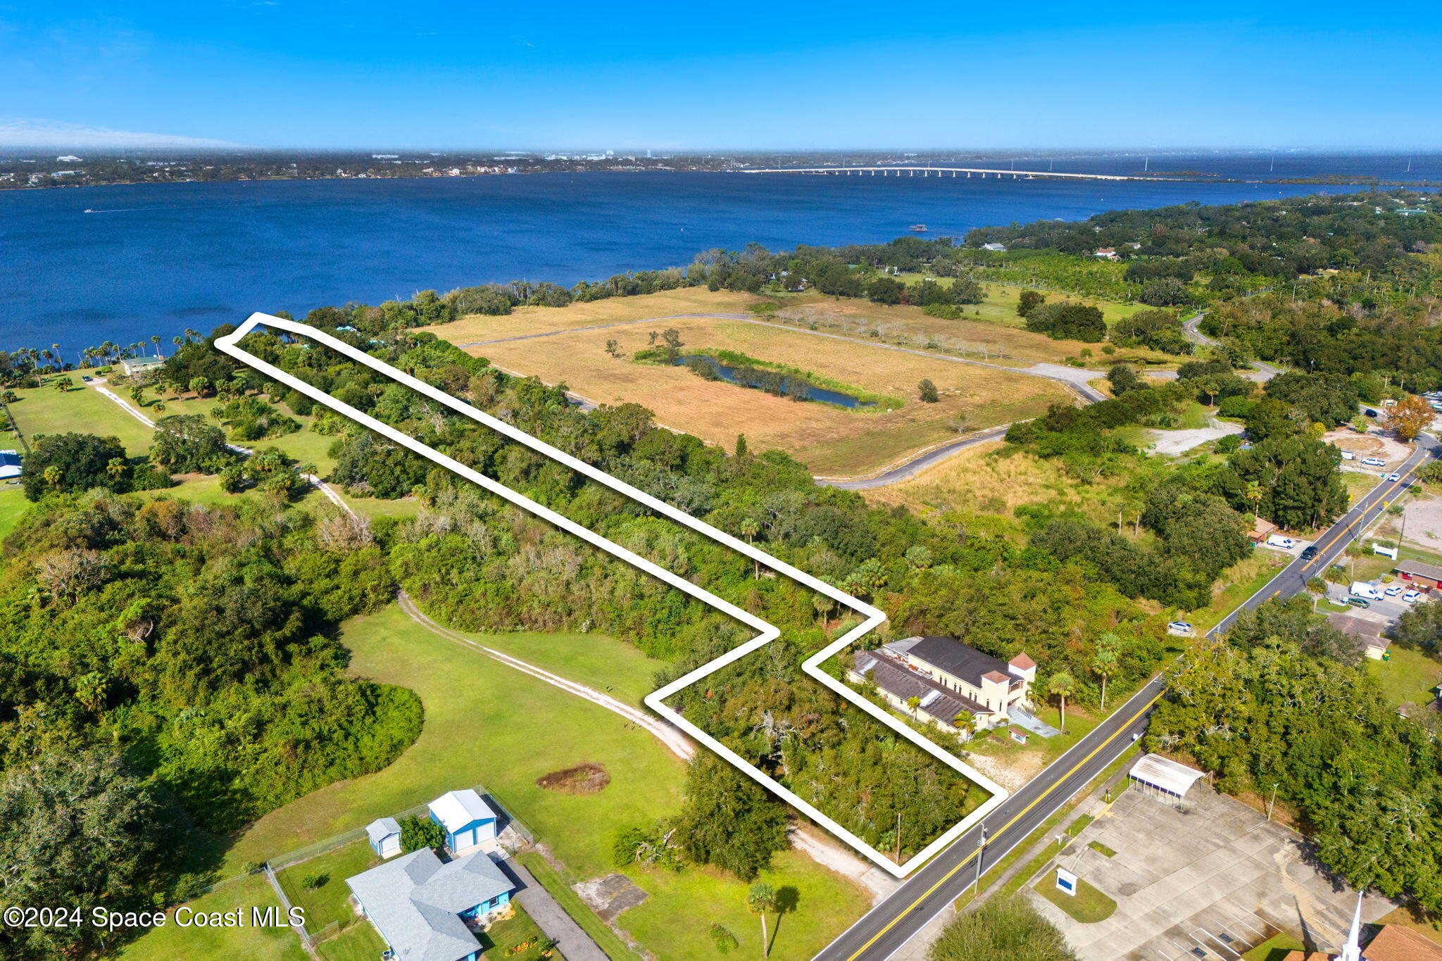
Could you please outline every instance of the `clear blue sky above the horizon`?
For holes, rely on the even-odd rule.
[[[0,1],[0,144],[1428,148],[1425,9]]]

